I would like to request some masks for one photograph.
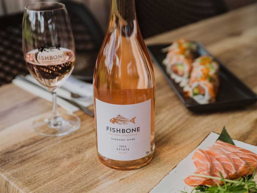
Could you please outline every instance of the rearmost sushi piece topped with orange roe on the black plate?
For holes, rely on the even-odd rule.
[[[178,39],[169,47],[162,49],[163,52],[167,52],[167,56],[163,60],[163,63],[167,65],[171,58],[176,55],[184,55],[186,58],[193,60],[196,49],[195,43],[185,39]]]

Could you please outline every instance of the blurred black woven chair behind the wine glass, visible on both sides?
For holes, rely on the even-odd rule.
[[[93,14],[83,5],[61,1],[66,5],[76,44],[76,65],[73,75],[93,80],[95,60],[104,33]],[[23,13],[0,18],[0,85],[10,83],[19,74],[28,74],[22,52]]]

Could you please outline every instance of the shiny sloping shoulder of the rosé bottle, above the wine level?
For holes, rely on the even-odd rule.
[[[153,87],[153,66],[144,42],[137,36],[128,38],[117,32],[107,35],[98,54],[94,83],[96,87]]]

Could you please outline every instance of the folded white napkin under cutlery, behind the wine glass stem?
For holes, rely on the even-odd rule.
[[[23,90],[26,90],[32,94],[39,96],[40,98],[46,99],[47,101],[50,101],[50,102],[52,101],[51,93],[48,91],[47,87],[38,83],[37,80],[33,78],[31,75],[27,75],[25,76],[25,78],[30,82],[39,85],[43,89],[40,89],[36,85],[33,85],[32,83],[29,83],[26,80],[23,80],[22,78],[19,78],[19,77],[16,77],[12,81],[12,83],[22,88]],[[73,98],[71,97],[70,92],[74,94],[79,94],[82,97]],[[61,88],[57,89],[57,95],[65,99],[72,100],[78,103],[79,105],[87,107],[93,104],[93,85],[90,83],[84,83],[76,79],[75,77],[70,76],[64,82],[64,85]],[[65,101],[64,99],[58,96],[57,96],[57,105],[61,106],[62,108],[64,108],[70,113],[73,113],[79,110],[78,107],[70,104],[69,102]]]

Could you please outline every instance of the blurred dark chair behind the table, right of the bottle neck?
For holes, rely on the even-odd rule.
[[[143,38],[228,10],[224,0],[135,0],[135,2]]]

